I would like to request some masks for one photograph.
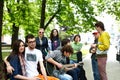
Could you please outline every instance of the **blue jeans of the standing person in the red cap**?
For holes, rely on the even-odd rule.
[[[92,70],[93,70],[94,80],[100,80],[100,74],[98,71],[98,63],[97,63],[97,59],[95,58],[92,58]]]

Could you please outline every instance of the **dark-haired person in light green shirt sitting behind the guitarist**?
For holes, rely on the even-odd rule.
[[[73,54],[71,54],[70,56],[70,64],[74,64],[82,61],[81,48],[83,44],[80,43],[80,41],[81,41],[80,35],[75,35],[73,38],[73,42],[70,43],[70,45],[74,50]],[[78,68],[80,69],[80,80],[87,80],[83,66],[78,66]]]

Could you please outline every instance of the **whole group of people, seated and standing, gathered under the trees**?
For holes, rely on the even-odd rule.
[[[96,67],[93,67],[93,70],[98,69],[97,73],[99,73],[95,72],[94,76],[99,76],[95,80],[107,80],[105,72],[107,54],[101,56],[96,53],[96,50],[99,52],[108,50],[109,35],[104,32],[104,26],[101,24],[96,23],[95,26],[100,35],[98,42],[92,44],[90,49],[96,61]],[[57,29],[51,31],[49,40],[44,36],[43,28],[39,29],[38,35],[34,37],[28,34],[25,37],[25,43],[22,40],[14,42],[11,54],[4,59],[7,72],[10,73],[10,80],[39,80],[40,78],[43,80],[87,80],[83,66],[77,64],[82,62],[83,44],[80,43],[80,35],[75,35],[73,42],[69,39],[60,40]],[[46,62],[57,67],[57,75],[53,73],[52,76],[47,76]],[[66,64],[73,65],[64,67]]]

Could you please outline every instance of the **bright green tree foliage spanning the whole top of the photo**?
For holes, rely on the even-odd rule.
[[[12,25],[25,30],[25,35],[33,33],[37,36],[40,27],[42,0],[5,0],[3,34],[12,33]],[[120,19],[119,0],[47,0],[45,9],[45,25],[59,10],[47,27],[46,35],[55,25],[67,26],[68,35],[93,30],[97,21],[95,16],[108,12]]]

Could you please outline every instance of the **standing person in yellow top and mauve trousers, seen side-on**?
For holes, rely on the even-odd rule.
[[[98,44],[93,44],[92,47],[97,47],[97,61],[98,70],[100,73],[100,80],[108,80],[106,74],[107,51],[110,47],[110,36],[105,32],[104,24],[98,21],[95,24],[96,30],[100,33]]]

